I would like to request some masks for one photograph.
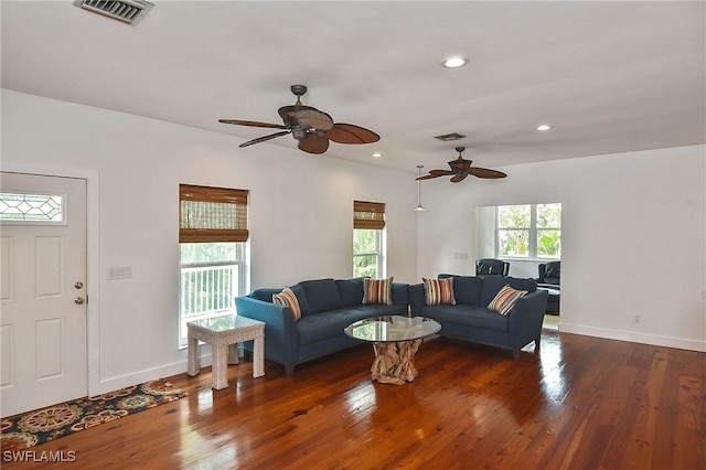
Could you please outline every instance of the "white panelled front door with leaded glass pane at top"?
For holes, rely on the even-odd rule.
[[[8,417],[87,395],[86,180],[1,172],[0,192],[0,415]]]

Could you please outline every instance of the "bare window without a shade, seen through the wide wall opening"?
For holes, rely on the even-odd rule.
[[[561,204],[500,205],[496,212],[498,257],[561,257]]]

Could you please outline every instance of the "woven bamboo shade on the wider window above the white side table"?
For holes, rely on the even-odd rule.
[[[247,190],[179,185],[179,242],[246,242]]]

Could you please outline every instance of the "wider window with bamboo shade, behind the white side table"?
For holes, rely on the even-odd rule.
[[[247,289],[247,191],[179,186],[181,248],[179,345],[186,322],[234,310]]]

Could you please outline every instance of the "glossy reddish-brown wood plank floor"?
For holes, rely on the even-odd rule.
[[[171,381],[188,398],[33,448],[63,468],[706,469],[706,353],[545,330],[518,362],[437,339],[419,376],[371,383],[368,345],[297,367]],[[8,463],[3,468],[41,468]]]

